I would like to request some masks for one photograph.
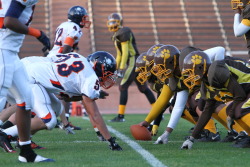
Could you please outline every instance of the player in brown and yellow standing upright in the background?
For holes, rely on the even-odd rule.
[[[144,93],[150,104],[154,104],[155,97],[147,84],[141,85],[137,80],[135,72],[135,61],[139,56],[136,47],[135,37],[129,27],[123,27],[122,17],[118,13],[112,13],[108,16],[107,27],[109,31],[114,32],[112,41],[116,48],[116,63],[118,77],[122,78],[119,86],[120,104],[118,115],[110,120],[111,122],[124,122],[124,114],[128,100],[128,88],[135,81],[139,91]]]

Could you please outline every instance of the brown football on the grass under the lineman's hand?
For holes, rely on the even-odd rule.
[[[144,126],[140,126],[139,124],[131,125],[130,132],[135,140],[152,140],[149,130]]]

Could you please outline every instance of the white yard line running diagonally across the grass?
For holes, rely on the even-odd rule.
[[[89,120],[89,118],[85,117],[83,117],[83,119]],[[127,143],[133,150],[139,153],[152,167],[167,167],[161,161],[159,161],[153,154],[142,148],[137,142],[131,140],[129,137],[113,129],[111,126],[107,127],[111,133],[114,133],[123,142]]]

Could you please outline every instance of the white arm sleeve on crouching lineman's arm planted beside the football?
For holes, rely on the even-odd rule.
[[[175,105],[174,105],[174,108],[172,110],[170,120],[168,122],[167,127],[171,128],[171,129],[174,129],[176,127],[178,121],[181,118],[181,115],[183,113],[185,105],[187,103],[187,99],[188,99],[188,91],[187,90],[183,90],[183,91],[180,91],[177,93]]]

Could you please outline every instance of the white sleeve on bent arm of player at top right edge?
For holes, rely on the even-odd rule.
[[[240,22],[240,14],[236,13],[234,15],[234,35],[236,37],[240,37],[244,35],[245,33],[247,33],[249,30],[250,30],[250,27]]]

